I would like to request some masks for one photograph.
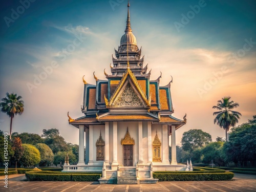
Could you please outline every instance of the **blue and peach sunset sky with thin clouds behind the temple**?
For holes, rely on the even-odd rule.
[[[173,116],[186,125],[182,134],[201,129],[215,140],[225,131],[214,124],[212,106],[230,96],[240,104],[239,124],[256,115],[256,1],[130,1],[131,27],[142,47],[151,80],[172,79]],[[13,132],[56,128],[78,144],[78,129],[68,123],[80,110],[84,79],[110,74],[127,17],[124,0],[4,1],[0,8],[0,98],[23,97],[25,111],[13,119]],[[0,130],[10,118],[0,113]]]

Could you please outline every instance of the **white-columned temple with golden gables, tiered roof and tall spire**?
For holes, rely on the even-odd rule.
[[[161,76],[150,80],[151,71],[143,65],[132,32],[129,3],[127,7],[125,33],[112,55],[111,74],[104,70],[106,80],[101,80],[93,73],[95,84],[83,77],[84,115],[72,119],[68,114],[69,124],[79,129],[79,162],[66,163],[63,171],[102,172],[100,183],[155,183],[153,170],[185,170],[177,164],[175,131],[186,118],[173,116],[172,80],[166,86],[159,86]]]

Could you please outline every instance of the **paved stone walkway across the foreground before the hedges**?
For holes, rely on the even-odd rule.
[[[256,191],[256,175],[234,174],[232,181],[173,181],[157,184],[114,185],[98,184],[98,182],[67,181],[26,181],[25,175],[10,175],[8,188],[4,187],[4,176],[0,176],[0,191]]]

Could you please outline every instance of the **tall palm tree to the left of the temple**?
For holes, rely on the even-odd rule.
[[[11,117],[10,139],[12,139],[12,119],[14,115],[22,115],[24,112],[24,101],[22,100],[22,96],[17,96],[17,94],[13,93],[9,94],[8,92],[2,101],[3,102],[0,103],[1,111]]]

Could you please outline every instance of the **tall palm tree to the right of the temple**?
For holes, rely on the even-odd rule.
[[[226,141],[227,132],[231,126],[238,123],[238,119],[240,119],[239,116],[241,116],[241,113],[232,111],[232,109],[237,108],[239,104],[230,101],[230,98],[231,97],[224,97],[222,100],[218,100],[217,106],[212,106],[213,109],[219,110],[218,112],[214,112],[214,115],[217,115],[214,119],[214,124],[217,122],[217,124],[226,131]]]

